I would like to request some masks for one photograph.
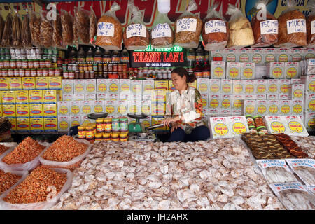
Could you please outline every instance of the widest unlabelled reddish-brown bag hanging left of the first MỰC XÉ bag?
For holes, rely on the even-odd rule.
[[[90,43],[90,12],[83,8],[74,7],[74,23],[76,29],[73,33],[78,39],[76,40],[76,46],[79,44],[88,45]]]

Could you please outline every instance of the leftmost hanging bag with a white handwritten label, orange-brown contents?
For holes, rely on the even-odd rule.
[[[120,6],[118,3],[114,2],[111,9],[97,21],[97,38],[95,45],[105,50],[121,50],[123,26],[116,17],[116,11],[118,10],[120,10]]]

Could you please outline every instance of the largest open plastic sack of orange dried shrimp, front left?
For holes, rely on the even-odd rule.
[[[8,189],[6,193],[3,193],[0,196],[0,210],[45,210],[55,206],[55,204],[59,202],[60,197],[71,187],[73,174],[69,169],[51,168],[48,169],[48,171],[52,171],[53,173],[45,172],[45,174],[49,174],[45,176],[41,171],[45,169],[47,168],[41,166],[37,167],[29,175],[23,176],[18,183]],[[64,174],[66,174],[66,176],[63,180],[60,176]],[[50,179],[50,176],[57,175],[58,177],[55,177],[55,179]],[[38,181],[38,179],[43,179],[44,177],[45,180]],[[29,186],[29,184],[33,183],[35,186]],[[60,185],[62,185],[62,187]],[[56,188],[56,186],[58,188]],[[34,189],[34,192],[31,191]],[[10,197],[11,194],[15,195],[15,197]],[[27,199],[22,198],[25,196],[32,200],[36,197],[36,200],[39,200],[38,202],[25,203]],[[44,200],[41,200],[42,198],[44,198]],[[10,203],[11,200],[14,200],[15,203]]]

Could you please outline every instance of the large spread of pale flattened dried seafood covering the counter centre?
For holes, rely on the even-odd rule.
[[[51,209],[285,209],[241,139],[94,144]]]

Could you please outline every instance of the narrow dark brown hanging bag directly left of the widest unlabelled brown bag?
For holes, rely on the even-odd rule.
[[[62,22],[62,43],[72,45],[73,43],[73,16],[66,10],[60,10]]]

